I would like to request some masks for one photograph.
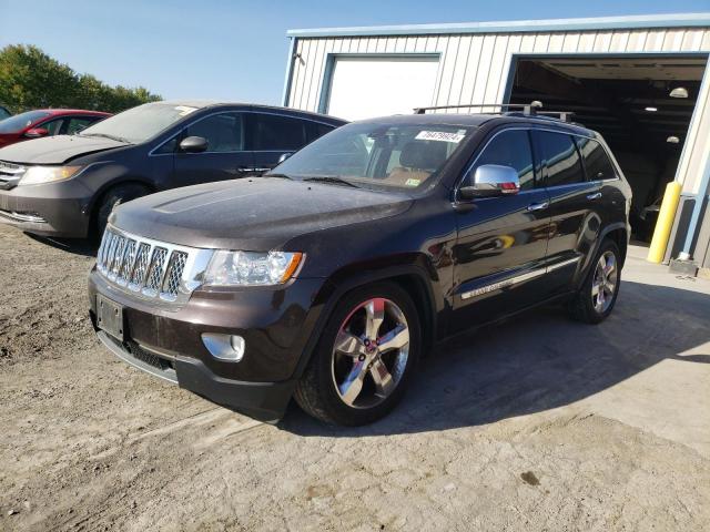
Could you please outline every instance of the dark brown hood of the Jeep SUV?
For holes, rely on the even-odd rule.
[[[255,177],[144,196],[118,207],[110,223],[172,244],[268,250],[307,233],[399,214],[410,203],[404,194]]]

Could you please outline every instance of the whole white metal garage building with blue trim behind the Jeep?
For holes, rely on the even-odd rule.
[[[633,187],[635,238],[649,238],[658,200],[674,180],[682,196],[666,258],[687,250],[710,267],[710,13],[331,28],[287,37],[286,106],[348,120],[531,100],[575,112],[575,121],[604,134]]]

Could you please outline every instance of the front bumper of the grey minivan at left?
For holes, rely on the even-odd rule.
[[[0,223],[38,235],[85,238],[91,194],[73,180],[0,191]]]

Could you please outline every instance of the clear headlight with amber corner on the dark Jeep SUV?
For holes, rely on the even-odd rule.
[[[294,276],[303,262],[302,253],[227,252],[212,256],[204,276],[205,285],[281,285]]]

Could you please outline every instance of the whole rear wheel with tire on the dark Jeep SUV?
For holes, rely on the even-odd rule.
[[[588,324],[604,321],[613,309],[620,284],[619,247],[612,241],[605,239],[595,255],[585,284],[569,304],[572,318]]]

